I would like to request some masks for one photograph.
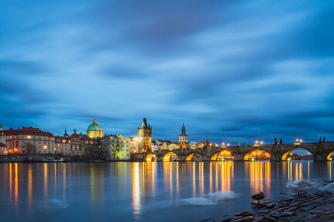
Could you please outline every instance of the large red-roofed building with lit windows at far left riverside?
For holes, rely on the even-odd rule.
[[[54,136],[36,127],[22,127],[0,131],[0,142],[7,147],[5,154],[25,153],[27,144],[32,144],[32,153],[54,154]]]

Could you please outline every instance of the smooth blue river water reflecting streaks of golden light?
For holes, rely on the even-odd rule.
[[[2,163],[2,221],[201,221],[251,211],[249,196],[332,180],[331,163]],[[287,194],[280,194],[285,192]]]

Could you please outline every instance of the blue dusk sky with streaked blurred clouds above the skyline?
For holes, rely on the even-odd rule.
[[[334,1],[2,1],[0,123],[334,141]]]

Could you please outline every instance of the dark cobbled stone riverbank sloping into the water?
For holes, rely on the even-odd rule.
[[[334,194],[317,191],[301,197],[292,197],[278,200],[259,208],[257,213],[240,212],[217,222],[311,222],[334,221]],[[213,222],[206,220],[206,222]]]

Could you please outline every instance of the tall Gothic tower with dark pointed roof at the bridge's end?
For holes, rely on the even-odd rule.
[[[143,118],[142,127],[138,125],[138,151],[151,151],[152,148],[152,126],[147,125],[146,118]]]

